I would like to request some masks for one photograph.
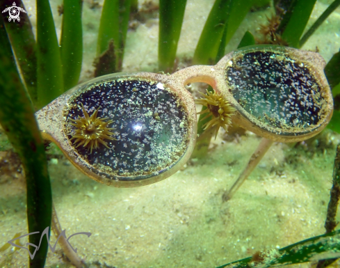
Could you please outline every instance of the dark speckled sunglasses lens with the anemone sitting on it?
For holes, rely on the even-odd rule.
[[[92,170],[106,178],[143,180],[172,168],[189,139],[186,110],[160,82],[117,79],[72,95],[67,137]]]

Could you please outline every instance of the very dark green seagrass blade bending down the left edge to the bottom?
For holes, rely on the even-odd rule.
[[[18,153],[24,166],[27,189],[27,221],[29,232],[43,232],[51,225],[52,193],[44,143],[35,120],[29,95],[22,84],[14,55],[0,16],[0,124]],[[47,234],[49,237],[49,232]],[[40,244],[41,242],[41,244]],[[29,236],[29,250],[40,245],[29,267],[44,267],[47,239]]]

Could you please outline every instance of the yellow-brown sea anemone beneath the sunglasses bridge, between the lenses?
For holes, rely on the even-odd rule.
[[[207,107],[207,109],[200,111],[197,114],[208,113],[207,116],[204,116],[204,118],[201,119],[201,121],[209,118],[209,116],[212,117],[209,122],[203,125],[203,127],[204,130],[210,127],[215,127],[216,139],[220,127],[223,127],[223,129],[225,129],[227,132],[227,126],[232,123],[231,116],[236,110],[229,104],[227,100],[225,100],[221,93],[216,93],[215,90],[213,90],[213,92],[207,90],[207,94],[200,94],[202,94],[204,97],[200,98],[200,100],[195,100],[195,103],[201,104]]]

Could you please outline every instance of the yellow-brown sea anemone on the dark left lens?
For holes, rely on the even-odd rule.
[[[76,148],[80,145],[83,145],[83,147],[88,147],[88,150],[90,150],[90,153],[92,153],[93,148],[98,148],[99,142],[109,149],[108,145],[105,141],[103,141],[103,139],[117,141],[117,139],[112,137],[113,133],[110,132],[110,130],[113,130],[114,128],[107,127],[108,124],[113,123],[113,120],[108,120],[105,122],[104,120],[107,120],[108,118],[97,117],[100,107],[98,107],[98,109],[95,110],[91,116],[88,116],[83,104],[81,104],[81,108],[83,109],[85,118],[78,116],[78,119],[70,119],[74,121],[74,123],[70,123],[70,125],[76,127],[75,134],[72,136],[72,139],[76,139],[74,144],[78,143]]]

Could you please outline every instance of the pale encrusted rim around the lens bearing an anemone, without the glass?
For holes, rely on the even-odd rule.
[[[92,166],[86,159],[74,148],[74,144],[67,135],[67,129],[65,129],[66,115],[70,102],[74,99],[74,95],[79,95],[82,92],[88,90],[88,88],[102,84],[108,81],[114,81],[118,79],[140,79],[143,81],[161,83],[165,88],[168,88],[170,92],[175,93],[181,101],[183,109],[186,113],[186,119],[188,122],[188,143],[186,145],[186,151],[184,154],[171,166],[159,171],[158,175],[149,173],[147,175],[136,176],[122,176],[108,174],[103,170],[100,170],[97,166]],[[169,77],[163,74],[153,74],[148,72],[140,72],[138,74],[108,74],[103,77],[97,77],[90,81],[86,81],[83,84],[71,88],[66,93],[58,97],[56,100],[42,108],[36,113],[40,129],[42,130],[42,136],[44,139],[54,141],[56,145],[63,151],[64,155],[78,168],[81,172],[88,175],[93,180],[101,182],[113,187],[140,187],[154,182],[159,182],[168,178],[181,168],[193,152],[195,146],[195,139],[197,136],[197,119],[195,114],[195,103],[193,97],[187,92],[185,88],[173,88],[169,81]],[[53,124],[51,124],[51,121]],[[60,129],[60,125],[61,127]],[[90,152],[89,152],[90,153]]]

